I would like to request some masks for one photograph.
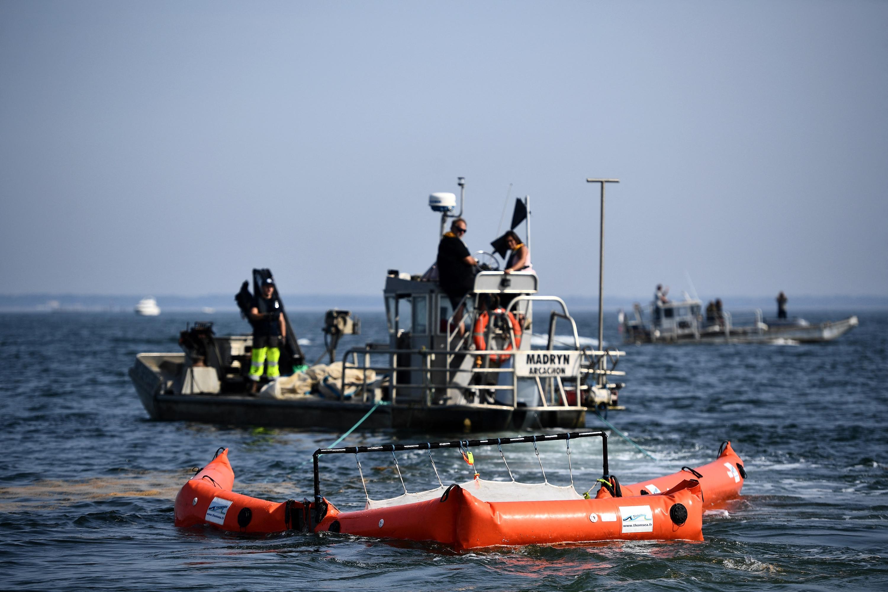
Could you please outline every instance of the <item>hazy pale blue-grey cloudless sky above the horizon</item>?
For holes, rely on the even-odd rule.
[[[0,81],[0,294],[377,294],[464,177],[594,295],[606,177],[608,295],[888,295],[884,2],[7,0]]]

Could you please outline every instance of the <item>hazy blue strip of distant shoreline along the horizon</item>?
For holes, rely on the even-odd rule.
[[[95,295],[95,294],[0,294],[0,312],[133,312],[133,307],[145,296],[139,295]],[[703,296],[705,303],[715,296]],[[760,308],[768,315],[776,309],[774,296],[718,296],[727,310]],[[155,296],[157,304],[164,312],[237,312],[234,296],[210,294],[205,296]],[[282,295],[291,311],[322,312],[331,308],[350,311],[382,312],[382,294],[378,295]],[[596,296],[564,296],[571,311],[598,309]],[[628,296],[606,296],[607,310],[630,311],[636,302],[648,304],[650,296],[631,298]],[[888,309],[888,296],[792,296],[789,295],[789,312],[805,310],[866,311]]]

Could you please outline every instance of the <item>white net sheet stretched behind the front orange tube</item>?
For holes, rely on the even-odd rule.
[[[559,501],[582,500],[574,485],[552,485],[551,483],[518,483],[516,481],[488,481],[474,479],[459,484],[480,501]],[[446,487],[436,487],[424,492],[404,493],[387,500],[367,499],[364,509],[391,508],[416,501],[440,498]]]

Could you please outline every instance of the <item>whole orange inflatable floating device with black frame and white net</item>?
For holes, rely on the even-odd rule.
[[[594,497],[579,493],[571,470],[570,485],[527,484],[514,480],[503,446],[579,438],[602,439],[602,478]],[[480,478],[472,448],[497,446],[511,481]],[[391,453],[403,483],[396,452],[425,450],[434,466],[432,450],[458,451],[474,471],[462,484],[408,493],[386,500],[372,500],[364,483],[364,509],[340,511],[321,495],[320,459],[325,454]],[[360,460],[357,468],[364,481]],[[428,541],[456,551],[496,546],[529,544],[588,543],[621,540],[702,541],[704,509],[724,506],[736,499],[746,480],[746,471],[730,442],[722,444],[718,458],[694,469],[620,485],[609,473],[607,434],[603,431],[539,434],[518,438],[487,438],[417,444],[384,444],[319,449],[313,454],[313,501],[260,500],[231,491],[234,471],[227,449],[189,479],[179,491],[174,523],[179,527],[210,526],[234,533],[347,533],[372,539]],[[435,475],[438,475],[437,468]],[[582,489],[582,487],[581,487]]]

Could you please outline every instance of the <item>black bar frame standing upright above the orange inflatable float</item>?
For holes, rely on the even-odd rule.
[[[449,442],[420,442],[418,444],[380,444],[378,446],[346,446],[345,448],[318,448],[312,455],[314,463],[314,512],[315,524],[321,522],[321,473],[318,459],[321,454],[365,454],[398,452],[401,450],[434,450],[435,448],[471,448],[473,446],[499,446],[503,444],[535,444],[554,440],[572,440],[577,438],[601,438],[602,470],[604,478],[610,477],[607,466],[607,433],[602,430],[569,431],[560,434],[539,434],[536,436],[520,436],[518,438],[486,438],[483,440],[451,440]],[[326,512],[325,512],[326,513]]]

